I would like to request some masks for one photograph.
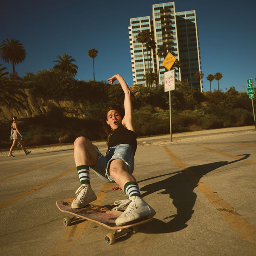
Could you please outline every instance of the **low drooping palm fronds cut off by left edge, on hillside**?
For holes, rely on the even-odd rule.
[[[10,84],[7,79],[9,72],[3,72],[6,67],[1,67],[0,64],[0,103],[2,105],[11,106],[17,104],[22,108],[25,108],[24,99],[27,97],[23,90],[15,88],[13,84]]]

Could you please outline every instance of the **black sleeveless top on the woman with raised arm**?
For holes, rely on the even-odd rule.
[[[122,123],[119,124],[118,128],[111,134],[108,142],[109,148],[120,145],[129,144],[134,149],[134,154],[137,149],[137,134],[134,131],[126,129]]]

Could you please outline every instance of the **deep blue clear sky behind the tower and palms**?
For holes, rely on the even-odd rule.
[[[26,49],[24,62],[17,64],[19,76],[54,66],[58,55],[66,53],[76,60],[76,79],[93,79],[92,59],[87,51],[98,50],[95,79],[107,80],[120,73],[133,84],[128,35],[130,18],[150,16],[157,0],[12,0],[1,3],[0,42],[19,40]],[[175,11],[195,10],[204,73],[222,73],[220,89],[234,86],[244,92],[246,79],[256,87],[256,1],[254,0],[176,0]],[[12,73],[11,64],[0,64]],[[218,81],[212,81],[212,90]]]

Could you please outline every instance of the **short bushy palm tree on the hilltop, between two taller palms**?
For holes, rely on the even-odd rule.
[[[76,61],[74,58],[72,58],[69,55],[66,55],[66,53],[62,54],[61,56],[57,56],[57,60],[52,62],[57,62],[54,64],[54,69],[61,70],[64,73],[69,73],[72,76],[76,76],[78,67],[76,64],[73,64],[71,62]]]

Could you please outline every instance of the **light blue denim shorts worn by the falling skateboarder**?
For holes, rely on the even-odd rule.
[[[133,173],[134,171],[134,149],[129,144],[120,144],[109,148],[108,152],[104,156],[99,148],[94,145],[96,151],[98,152],[98,160],[95,166],[90,166],[91,169],[98,175],[102,180],[107,182],[115,182],[111,175],[109,174],[109,166],[112,160],[121,159],[123,160],[127,167],[128,172]]]

